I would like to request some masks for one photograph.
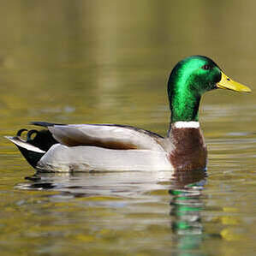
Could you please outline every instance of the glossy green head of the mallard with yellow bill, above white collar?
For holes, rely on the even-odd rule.
[[[198,121],[201,96],[217,88],[251,92],[247,86],[230,80],[208,57],[192,56],[177,63],[168,81],[171,122]]]

